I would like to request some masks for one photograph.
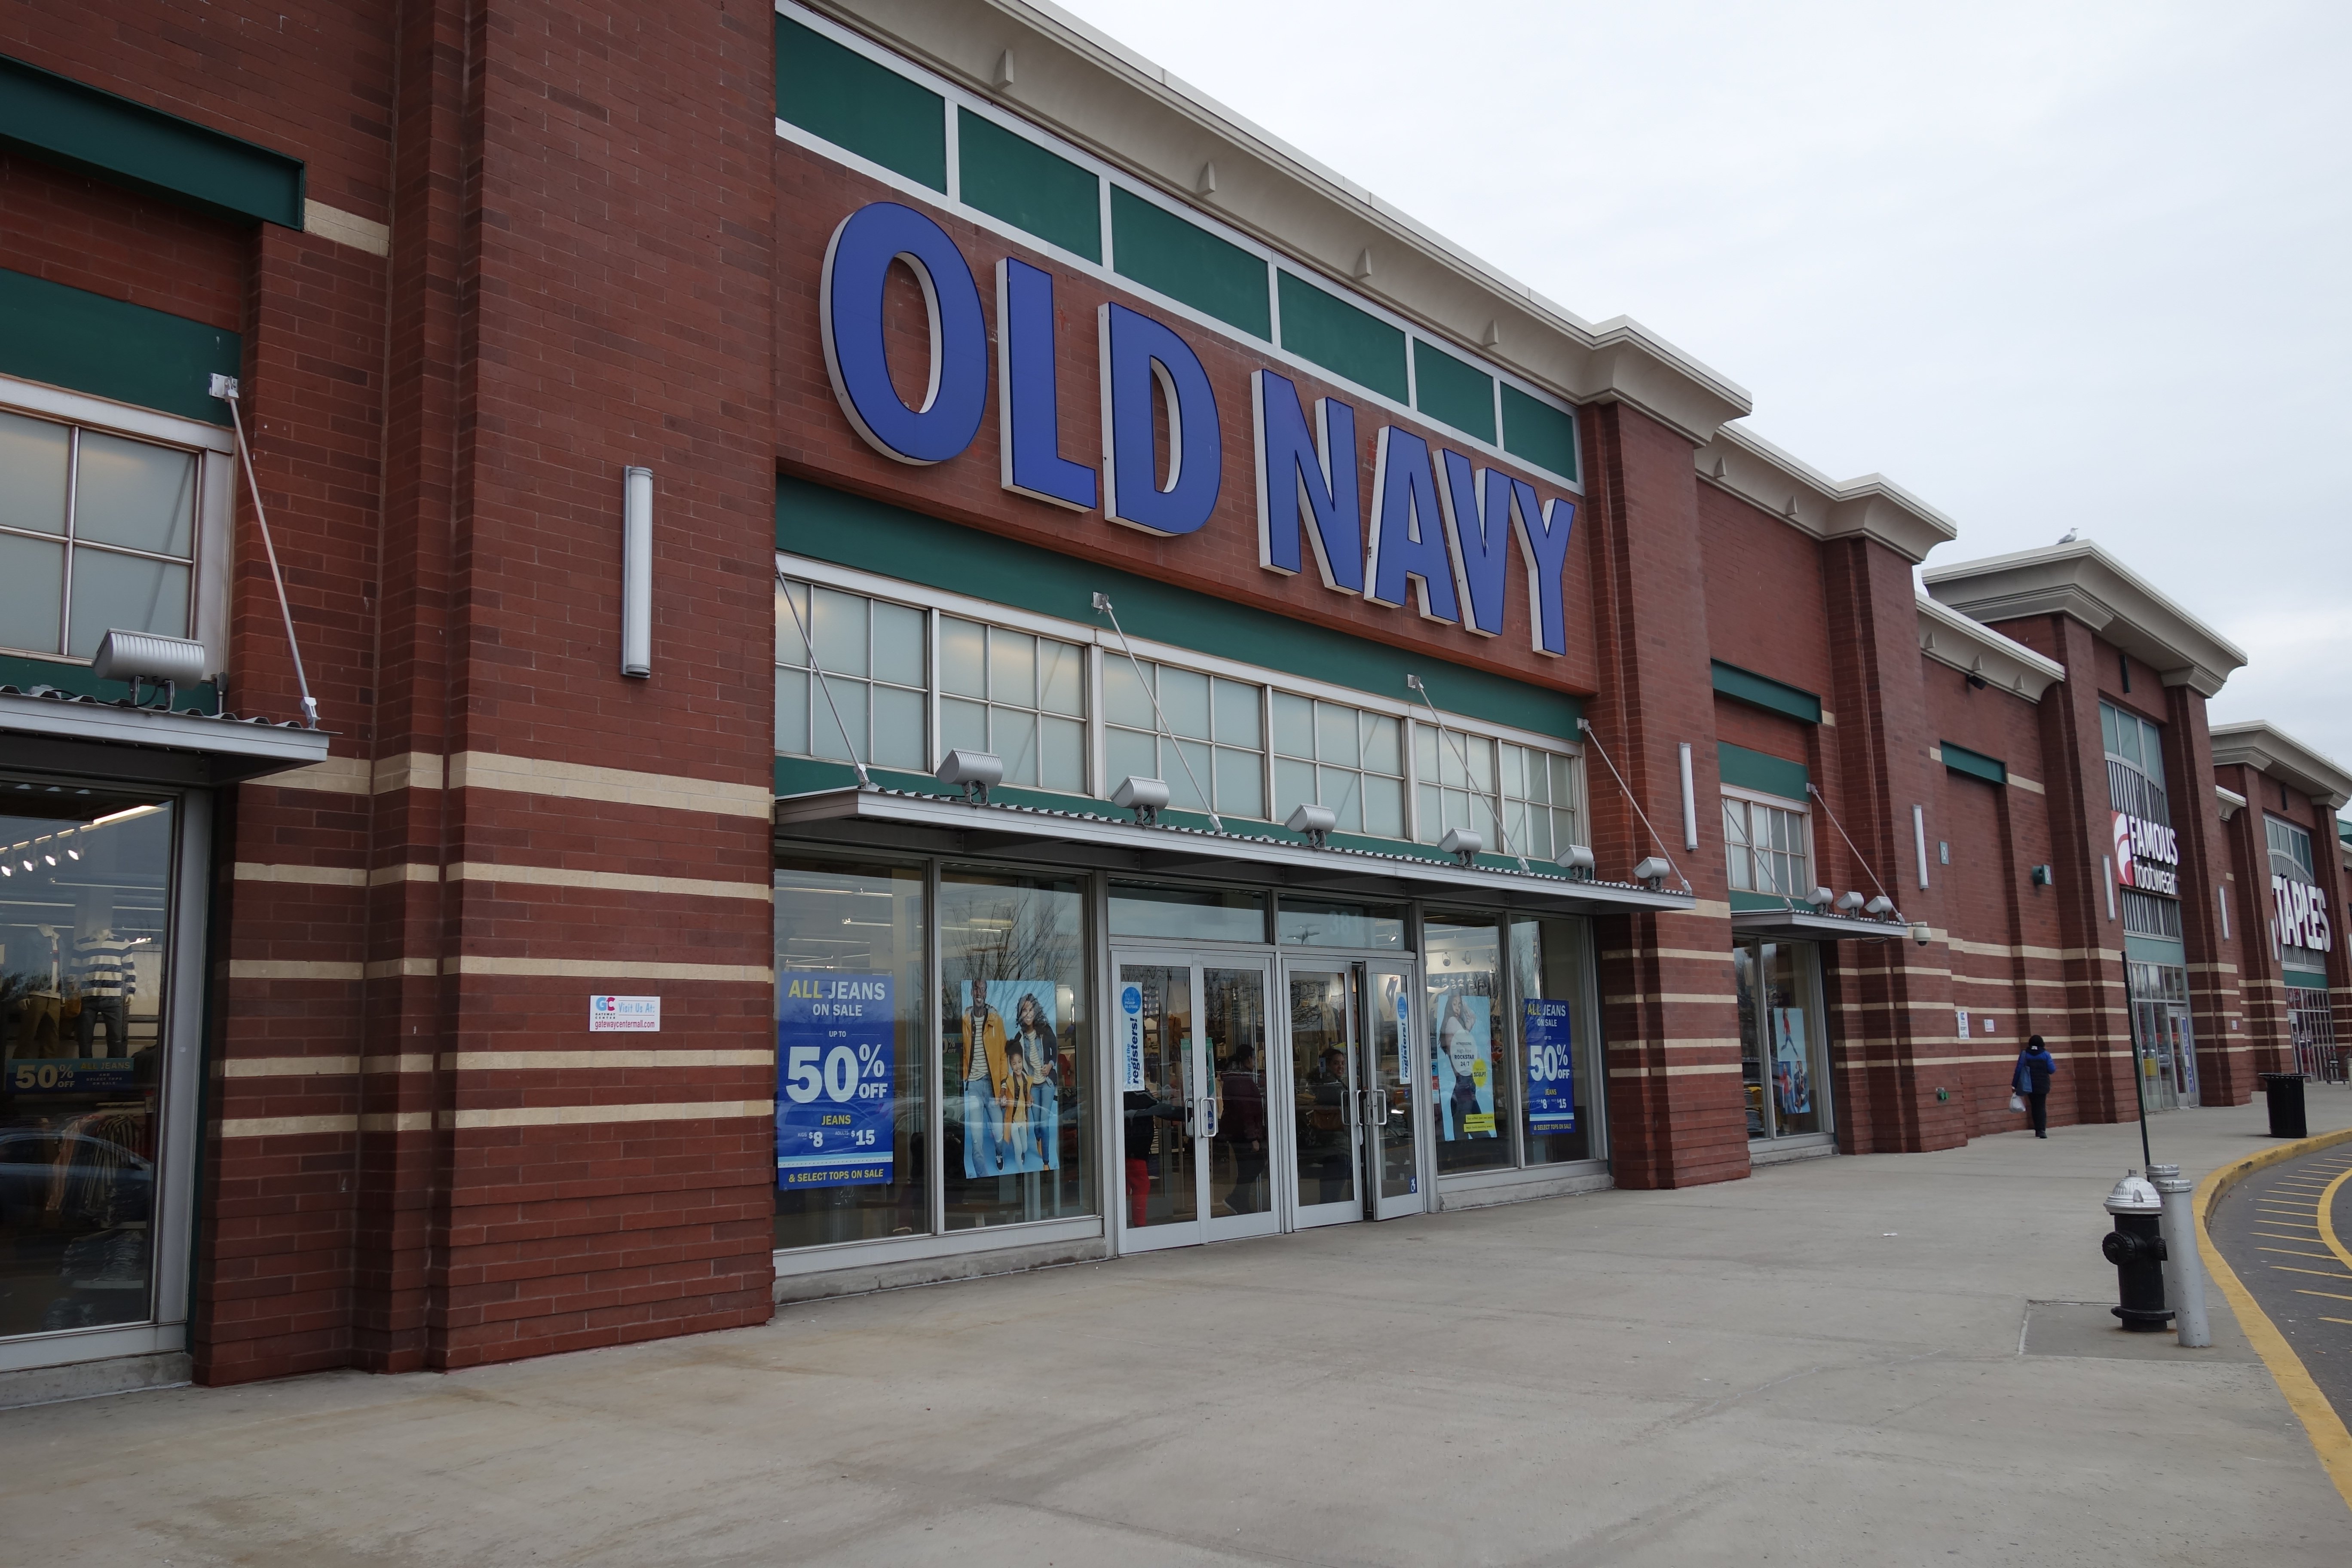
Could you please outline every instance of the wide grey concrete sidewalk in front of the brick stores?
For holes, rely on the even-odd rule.
[[[2152,1124],[2192,1175],[2260,1128]],[[2027,1302],[2114,1300],[2138,1164],[2063,1128],[9,1410],[7,1561],[2343,1568],[2352,1509],[2230,1342],[2020,1354]],[[2100,1352],[2096,1316],[2034,1349]]]

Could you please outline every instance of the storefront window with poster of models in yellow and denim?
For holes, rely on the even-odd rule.
[[[938,966],[948,1229],[1094,1213],[1082,884],[943,872]]]

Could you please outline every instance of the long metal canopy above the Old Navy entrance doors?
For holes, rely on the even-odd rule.
[[[1341,898],[1463,898],[1555,914],[1679,912],[1698,900],[1628,882],[1571,882],[1545,872],[1463,867],[1367,849],[1310,849],[1284,839],[1200,827],[1141,827],[1110,816],[1037,806],[974,806],[906,790],[818,790],[776,802],[776,830],[873,849],[1018,853],[1040,865],[1129,875],[1221,877]]]

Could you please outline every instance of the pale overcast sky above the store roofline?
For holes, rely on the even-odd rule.
[[[2082,529],[2352,766],[2352,5],[1061,0],[1837,480]]]

